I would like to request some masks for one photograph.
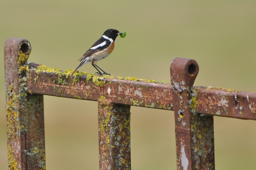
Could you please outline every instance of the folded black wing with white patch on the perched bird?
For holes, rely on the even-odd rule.
[[[86,53],[84,53],[84,55],[79,59],[80,62],[81,62],[84,58],[86,58],[86,57],[88,57],[88,56],[90,56],[90,55],[92,55],[92,54],[94,54],[94,53],[96,53],[96,52],[99,52],[99,51],[101,51],[101,50],[104,50],[104,49],[107,48],[110,44],[111,44],[110,40],[106,40],[105,38],[101,37],[100,39],[98,39],[98,40],[91,46],[91,48],[90,48],[89,50],[86,51]]]

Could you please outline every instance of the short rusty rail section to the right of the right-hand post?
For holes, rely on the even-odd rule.
[[[256,94],[231,89],[196,87],[196,112],[256,120]]]

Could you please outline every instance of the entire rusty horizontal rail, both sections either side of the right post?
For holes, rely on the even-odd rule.
[[[106,95],[112,98],[114,103],[173,110],[173,89],[177,90],[178,88],[179,91],[189,87],[184,86],[182,81],[173,81],[172,87],[165,83],[120,80],[98,76],[97,84],[95,79],[89,78],[88,80],[86,75],[81,76],[79,82],[78,80],[74,82],[74,79],[65,74],[60,76],[54,72],[37,72],[37,66],[39,64],[29,64],[29,89],[32,93],[50,96],[97,101],[101,95]],[[194,87],[194,89],[198,94],[196,98],[197,113],[256,120],[255,93],[206,87]]]

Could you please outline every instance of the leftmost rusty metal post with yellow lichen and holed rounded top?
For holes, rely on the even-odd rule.
[[[28,90],[28,40],[4,44],[8,166],[10,170],[45,170],[43,95]]]

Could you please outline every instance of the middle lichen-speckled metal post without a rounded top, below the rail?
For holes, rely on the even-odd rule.
[[[98,100],[100,170],[130,170],[130,106]]]

